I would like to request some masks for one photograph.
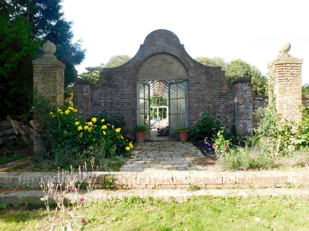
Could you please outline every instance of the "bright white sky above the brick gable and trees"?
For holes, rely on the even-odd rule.
[[[63,11],[74,21],[74,40],[83,39],[87,49],[79,73],[113,55],[134,56],[151,31],[167,29],[192,58],[242,59],[263,75],[287,40],[289,53],[303,59],[303,83],[309,82],[307,1],[64,0]]]

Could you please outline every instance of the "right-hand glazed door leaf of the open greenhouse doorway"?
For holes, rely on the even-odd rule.
[[[170,134],[176,128],[184,128],[186,122],[186,81],[169,83],[169,128]]]

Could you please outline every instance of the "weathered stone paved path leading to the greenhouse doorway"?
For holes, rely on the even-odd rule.
[[[193,161],[203,157],[193,144],[175,141],[145,142],[131,152],[134,156],[120,169],[130,172],[199,171],[202,168]]]

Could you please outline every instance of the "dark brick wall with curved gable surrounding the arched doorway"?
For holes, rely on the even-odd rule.
[[[97,84],[76,81],[73,87],[74,107],[82,111],[85,117],[99,115],[102,110],[106,110],[110,116],[121,113],[129,128],[127,135],[134,137],[133,128],[137,124],[137,80],[138,75],[144,76],[146,73],[145,68],[141,69],[142,73],[139,73],[139,69],[147,58],[156,54],[173,56],[175,63],[179,60],[186,70],[181,73],[186,75],[184,78],[188,81],[189,126],[196,124],[197,118],[207,110],[225,116],[228,121],[226,125],[235,123],[233,86],[226,81],[224,71],[221,67],[205,66],[192,59],[176,34],[168,30],[151,32],[131,60],[120,67],[104,68]],[[165,70],[168,73],[168,66]],[[252,115],[250,118],[252,121]]]

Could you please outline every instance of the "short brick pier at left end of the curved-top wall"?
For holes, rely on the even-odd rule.
[[[73,105],[85,119],[91,115],[91,83],[86,79],[77,79],[73,85]]]

